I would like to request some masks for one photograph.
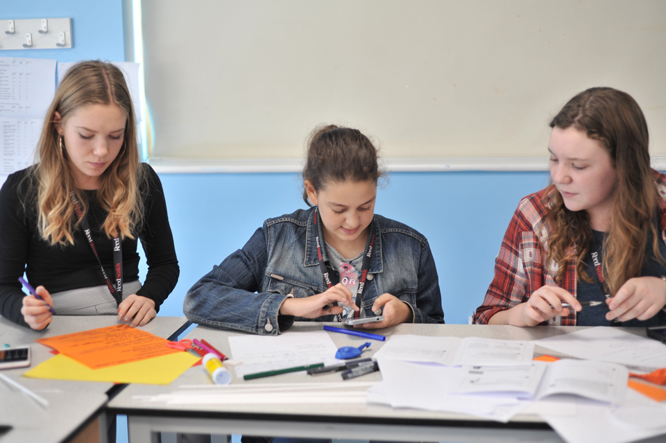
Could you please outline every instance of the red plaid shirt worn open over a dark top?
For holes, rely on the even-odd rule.
[[[659,220],[663,241],[666,243],[666,175],[653,171],[659,195]],[[557,286],[554,281],[557,263],[551,261],[544,265],[548,251],[548,238],[552,227],[547,220],[555,186],[548,186],[537,193],[523,198],[515,210],[511,223],[506,229],[502,246],[495,259],[495,277],[490,283],[484,303],[477,308],[473,322],[488,324],[493,315],[499,311],[513,308],[517,304],[527,302],[529,296],[544,285]],[[547,206],[544,205],[546,200]],[[573,246],[567,250],[567,271],[561,287],[576,297],[576,259]],[[548,324],[563,326],[576,325],[576,312],[571,309],[570,315],[556,316]]]

